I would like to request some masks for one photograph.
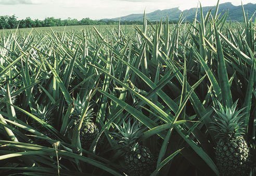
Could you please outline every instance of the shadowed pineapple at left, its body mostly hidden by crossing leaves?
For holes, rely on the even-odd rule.
[[[44,122],[48,123],[49,125],[53,126],[53,120],[51,119],[51,111],[48,110],[47,106],[43,105],[36,105],[37,108],[31,108],[32,114],[35,115],[37,118],[40,118]],[[43,127],[40,123],[36,121],[32,121],[31,126],[34,127],[37,131],[40,133],[44,134],[45,136],[51,138],[51,139],[56,139],[56,137],[50,133],[49,130],[47,130],[45,127]],[[43,145],[43,146],[50,146],[48,142],[42,139],[34,138],[33,139],[36,144]]]

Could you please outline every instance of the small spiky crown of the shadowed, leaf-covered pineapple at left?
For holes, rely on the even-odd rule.
[[[48,106],[36,104],[36,109],[31,108],[32,114],[40,118],[44,122],[48,123],[50,121],[50,117],[52,116],[52,111],[49,110]]]

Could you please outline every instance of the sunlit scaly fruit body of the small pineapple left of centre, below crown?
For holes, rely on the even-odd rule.
[[[80,140],[82,148],[89,150],[94,139],[99,134],[98,127],[93,122],[84,122],[80,131]]]

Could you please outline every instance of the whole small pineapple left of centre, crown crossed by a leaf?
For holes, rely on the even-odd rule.
[[[81,100],[80,96],[74,100],[74,111],[72,118],[75,119],[75,123],[78,123],[81,119],[82,111],[85,105],[85,99]],[[82,148],[85,150],[89,150],[92,145],[92,142],[99,134],[99,129],[92,121],[93,118],[93,109],[89,109],[85,115],[82,127],[80,129],[80,141]]]

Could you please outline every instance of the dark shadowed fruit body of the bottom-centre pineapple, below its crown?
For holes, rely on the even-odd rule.
[[[124,163],[129,176],[148,176],[156,168],[156,160],[146,146],[139,145],[134,151],[124,155]]]

